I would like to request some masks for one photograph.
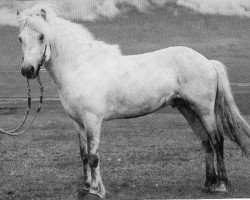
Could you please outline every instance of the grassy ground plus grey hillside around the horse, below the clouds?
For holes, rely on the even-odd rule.
[[[174,15],[176,10],[179,13]],[[203,16],[168,7],[148,14],[130,13],[111,21],[80,22],[99,39],[118,43],[125,54],[186,45],[228,66],[237,104],[250,122],[250,20]],[[20,46],[13,27],[0,27],[0,97],[26,95],[20,75]],[[55,87],[42,72],[45,96]],[[238,83],[242,83],[241,85]],[[34,83],[34,88],[35,87]],[[34,89],[37,96],[37,89]],[[13,101],[14,102],[14,101]],[[36,105],[33,106],[35,108]],[[10,128],[25,103],[1,101],[1,127]],[[246,140],[250,147],[250,141]],[[226,141],[228,194],[209,194],[204,153],[185,119],[171,108],[156,114],[103,124],[101,167],[108,199],[250,197],[250,160]],[[81,190],[82,164],[71,120],[58,101],[46,101],[27,133],[0,139],[0,199],[97,199]]]

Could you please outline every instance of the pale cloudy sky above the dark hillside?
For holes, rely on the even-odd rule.
[[[44,0],[2,0],[0,24],[17,25],[16,10]],[[250,17],[250,0],[50,0],[59,4],[70,19],[93,21],[98,18],[113,18],[131,8],[147,12],[155,7],[174,3],[204,14],[236,15]]]

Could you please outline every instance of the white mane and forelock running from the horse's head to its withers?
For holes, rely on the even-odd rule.
[[[46,20],[40,16],[42,9],[46,11]],[[96,40],[84,26],[59,17],[63,16],[62,10],[59,6],[48,2],[39,3],[20,14],[20,28],[27,25],[38,32],[44,33],[48,38],[53,38],[57,31],[56,37],[64,35],[65,38],[62,37],[62,39],[65,42],[73,43],[71,45],[75,43],[77,47],[81,45],[85,46],[84,48],[86,46],[91,47],[91,53],[121,55],[118,45]]]

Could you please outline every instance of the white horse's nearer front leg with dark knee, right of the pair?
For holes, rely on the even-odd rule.
[[[99,157],[101,124],[102,118],[95,114],[88,114],[86,120],[88,164],[91,169],[92,178],[89,193],[104,198],[106,191],[102,183]]]

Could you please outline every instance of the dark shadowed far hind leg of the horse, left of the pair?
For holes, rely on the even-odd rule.
[[[177,109],[186,118],[193,132],[201,140],[202,147],[205,151],[206,162],[206,182],[205,187],[210,190],[217,181],[217,175],[214,166],[214,150],[210,141],[210,136],[204,129],[199,116],[190,108],[187,102],[182,99],[175,100]]]

